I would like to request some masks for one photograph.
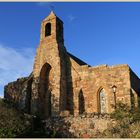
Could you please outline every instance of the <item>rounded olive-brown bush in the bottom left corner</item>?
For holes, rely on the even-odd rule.
[[[15,138],[31,130],[30,117],[14,108],[14,104],[0,99],[0,138]]]

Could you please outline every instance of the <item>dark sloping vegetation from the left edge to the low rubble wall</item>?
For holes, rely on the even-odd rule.
[[[13,102],[0,99],[0,138],[54,138],[53,130],[46,131],[41,119],[16,109]]]

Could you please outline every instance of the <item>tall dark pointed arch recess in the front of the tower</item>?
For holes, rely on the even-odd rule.
[[[51,116],[51,89],[50,89],[51,66],[45,63],[40,72],[39,82],[39,113],[45,119]]]

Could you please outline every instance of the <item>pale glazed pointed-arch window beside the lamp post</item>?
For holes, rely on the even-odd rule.
[[[99,92],[100,113],[107,113],[107,96],[104,89]]]

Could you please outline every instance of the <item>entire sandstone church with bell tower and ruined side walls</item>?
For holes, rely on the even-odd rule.
[[[51,12],[41,23],[29,77],[8,83],[4,98],[42,118],[110,113],[118,101],[138,106],[140,79],[128,65],[91,67],[67,52],[63,21]]]

